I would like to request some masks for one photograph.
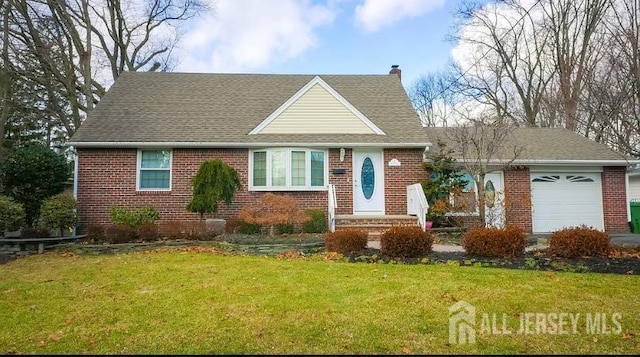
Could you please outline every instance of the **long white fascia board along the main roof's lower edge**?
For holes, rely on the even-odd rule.
[[[211,143],[211,142],[131,142],[131,141],[92,141],[67,142],[76,148],[264,148],[264,147],[381,147],[381,148],[424,148],[431,143],[335,143],[335,142],[256,142],[256,143]]]

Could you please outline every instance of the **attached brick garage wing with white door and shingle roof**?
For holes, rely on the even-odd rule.
[[[440,139],[457,149],[452,156],[464,161],[456,148],[456,130],[427,128],[426,132],[430,141]],[[492,223],[541,233],[579,225],[629,232],[626,170],[640,161],[561,128],[516,128],[508,137],[490,162],[497,168],[511,162],[510,167],[485,178],[501,193],[498,204],[487,210]]]

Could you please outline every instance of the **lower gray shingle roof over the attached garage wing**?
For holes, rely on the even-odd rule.
[[[451,143],[456,128],[425,128],[427,137],[433,143],[438,138]],[[516,162],[532,163],[536,161],[619,161],[626,165],[628,161],[637,161],[611,150],[608,146],[595,142],[563,128],[515,128],[509,143],[504,145],[496,159],[513,158],[514,147],[521,148]],[[454,150],[455,148],[452,147]],[[452,156],[456,157],[456,154]],[[458,155],[459,157],[459,155]]]

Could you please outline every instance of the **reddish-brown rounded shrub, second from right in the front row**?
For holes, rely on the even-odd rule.
[[[524,255],[527,236],[520,227],[475,227],[462,235],[462,246],[468,254],[483,257],[519,257]]]

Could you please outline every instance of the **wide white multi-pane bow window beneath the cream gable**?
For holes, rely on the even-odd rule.
[[[327,152],[302,148],[249,151],[249,189],[323,190],[328,180]]]

